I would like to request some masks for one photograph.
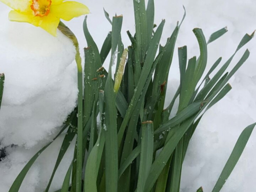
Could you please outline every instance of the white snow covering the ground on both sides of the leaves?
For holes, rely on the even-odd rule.
[[[124,16],[122,38],[125,46],[130,45],[125,32],[135,31],[131,0],[80,2],[91,10],[88,26],[99,47],[111,30],[110,24],[104,18],[103,7],[110,15],[117,13]],[[243,35],[252,33],[256,28],[254,0],[156,0],[155,4],[155,23],[159,24],[162,18],[166,19],[162,44],[172,33],[177,20],[181,20],[182,5],[185,6],[187,16],[178,36],[177,47],[187,45],[188,57],[199,54],[193,28],[202,28],[208,38],[212,32],[228,27],[229,32],[208,47],[208,69],[219,56],[223,57],[222,62],[226,61]],[[5,95],[0,111],[0,140],[2,146],[8,146],[8,156],[0,162],[0,192],[8,191],[26,162],[53,137],[50,135],[56,133],[57,127],[72,111],[77,94],[72,43],[60,33],[54,38],[29,24],[11,23],[7,19],[8,11],[9,8],[0,4],[0,73],[6,74]],[[81,48],[86,47],[82,22],[83,17],[80,17],[68,23],[77,35]],[[246,48],[251,54],[244,66],[230,80],[233,89],[205,114],[190,142],[183,166],[182,192],[196,191],[200,186],[203,186],[205,191],[211,191],[240,133],[247,125],[256,121],[255,39],[234,57],[231,67],[240,59]],[[177,61],[176,56],[169,75],[170,94],[173,94],[178,84]],[[10,147],[10,144],[18,146]],[[36,161],[22,184],[21,192],[44,190],[60,145],[61,138],[44,153],[44,158]],[[255,146],[254,131],[222,191],[256,191],[256,151],[253,150]],[[70,150],[58,169],[52,191],[61,186],[72,155]]]

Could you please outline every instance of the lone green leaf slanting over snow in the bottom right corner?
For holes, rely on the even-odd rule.
[[[230,176],[234,166],[236,166],[239,158],[241,157],[241,155],[244,151],[244,148],[247,144],[247,141],[250,138],[255,125],[256,125],[256,123],[253,123],[253,124],[247,126],[245,128],[245,130],[242,132],[242,134],[240,135],[240,137],[238,138],[238,141],[237,141],[236,145],[234,146],[233,151],[232,151],[231,155],[229,156],[227,163],[225,164],[216,185],[214,186],[214,189],[212,189],[212,192],[219,192],[221,190],[221,188],[223,187],[223,185],[225,184],[225,182],[228,179],[228,177]]]

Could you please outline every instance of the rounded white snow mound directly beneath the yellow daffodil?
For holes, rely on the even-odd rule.
[[[30,148],[51,140],[76,105],[75,49],[70,39],[53,37],[0,13],[0,72],[5,89],[0,111],[0,148]],[[4,26],[4,27],[3,27]]]

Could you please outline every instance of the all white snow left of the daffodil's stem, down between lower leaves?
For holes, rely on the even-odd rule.
[[[1,192],[9,190],[28,160],[59,132],[76,105],[78,93],[72,42],[60,32],[55,38],[32,25],[9,22],[8,12],[1,3],[0,71],[6,80],[0,111],[0,148],[7,147],[7,157],[0,162]],[[58,148],[54,146],[60,144],[58,139],[47,157],[36,161],[20,191],[43,190],[56,161]],[[66,169],[60,169],[59,174],[64,172]],[[62,181],[57,180],[53,188]]]

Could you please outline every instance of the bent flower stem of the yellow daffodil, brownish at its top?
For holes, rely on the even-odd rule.
[[[76,48],[76,64],[78,76],[78,125],[77,125],[77,164],[76,164],[76,192],[81,192],[82,182],[82,59],[79,52],[78,40],[74,33],[62,22],[59,23],[58,29],[73,41]]]

